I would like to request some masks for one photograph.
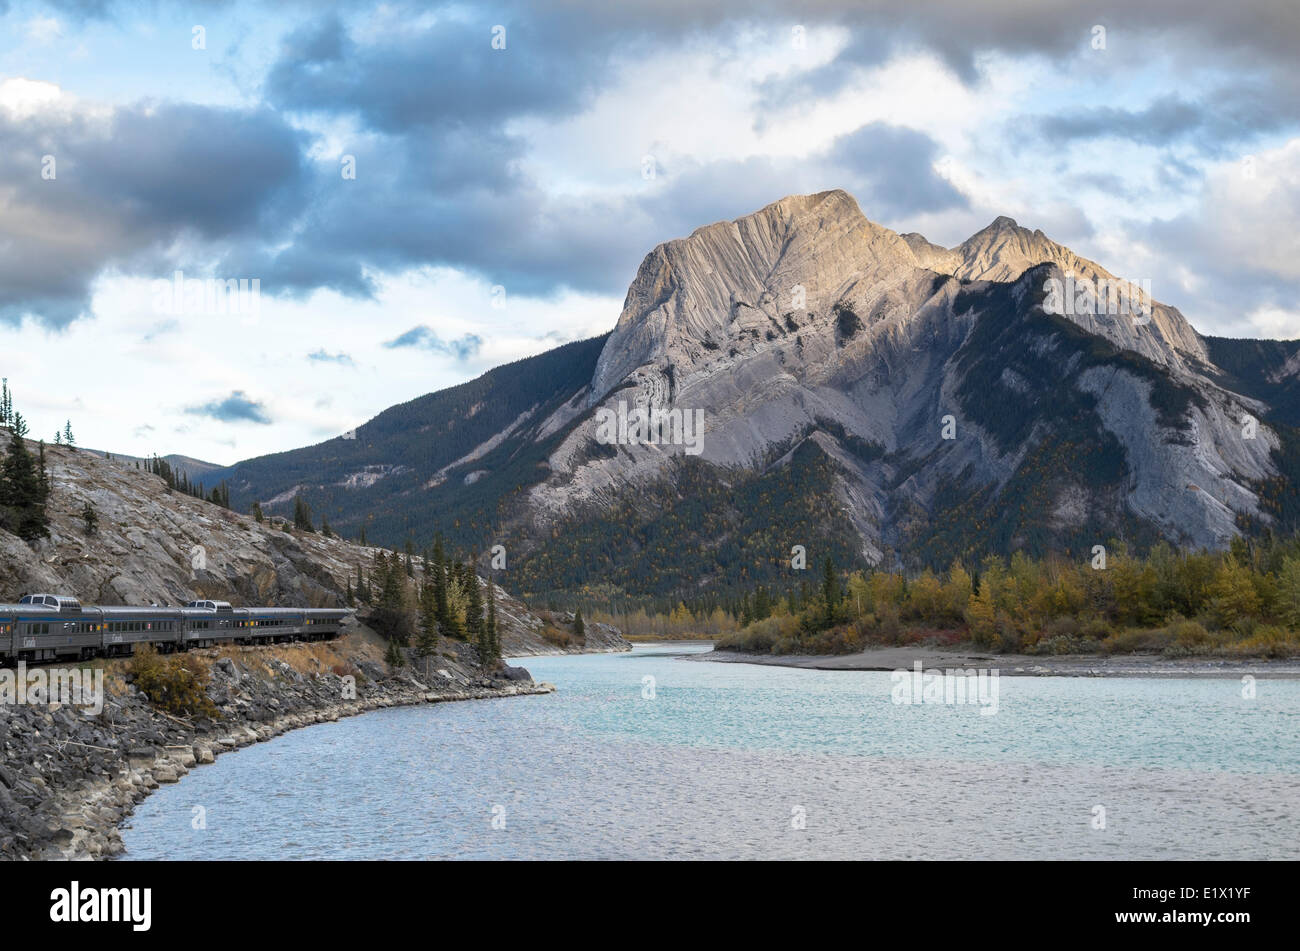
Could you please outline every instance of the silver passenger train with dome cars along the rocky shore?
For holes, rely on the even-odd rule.
[[[83,605],[64,595],[23,595],[0,604],[0,664],[130,655],[135,644],[186,651],[222,643],[328,640],[351,608],[235,608],[198,600],[181,608]]]

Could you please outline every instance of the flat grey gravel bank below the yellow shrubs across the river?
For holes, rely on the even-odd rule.
[[[807,670],[996,669],[1006,677],[1269,677],[1300,679],[1300,660],[1266,657],[1167,657],[1160,653],[992,653],[942,647],[874,647],[857,653],[742,653],[707,651],[688,660],[760,664]]]

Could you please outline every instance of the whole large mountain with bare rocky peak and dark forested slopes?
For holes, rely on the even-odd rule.
[[[1300,344],[1201,336],[1011,218],[942,248],[827,191],[654,248],[604,338],[209,478],[389,544],[506,544],[524,592],[675,599],[798,583],[793,546],[919,566],[1294,527],[1297,379]],[[611,439],[620,404],[702,437]]]

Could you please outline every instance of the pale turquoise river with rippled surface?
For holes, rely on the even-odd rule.
[[[1001,677],[989,715],[701,650],[528,657],[555,694],[228,754],[124,859],[1300,857],[1297,681]]]

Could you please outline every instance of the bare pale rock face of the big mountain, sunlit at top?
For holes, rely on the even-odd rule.
[[[1268,407],[1216,382],[1205,342],[1157,290],[1010,218],[942,248],[871,222],[844,191],[796,195],[651,251],[585,400],[597,413],[702,409],[698,451],[722,466],[770,465],[792,440],[815,439],[841,464],[840,501],[874,559],[902,540],[898,513],[942,517],[941,486],[996,494],[1045,440],[1087,439],[1053,421],[1066,387],[1075,417],[1087,413],[1070,426],[1096,427],[1121,459],[1106,485],[1053,473],[1045,517],[1070,529],[1131,516],[1222,546],[1240,514],[1261,517],[1253,485],[1274,473],[1278,440],[1268,426],[1243,438],[1243,418]],[[998,334],[1000,321],[1026,326]],[[1152,408],[1153,381],[1174,409]],[[1031,417],[1017,439],[994,438],[998,413],[982,396]],[[863,461],[845,437],[881,457]],[[601,453],[593,440],[580,426],[551,455],[534,512],[654,481],[682,452],[660,442]]]

